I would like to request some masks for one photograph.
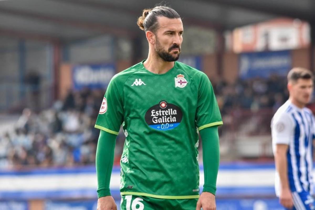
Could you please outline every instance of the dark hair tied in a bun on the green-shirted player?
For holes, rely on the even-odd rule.
[[[154,8],[144,9],[142,15],[138,18],[137,24],[141,30],[156,32],[158,28],[157,17],[180,18],[180,15],[167,6],[156,6]]]

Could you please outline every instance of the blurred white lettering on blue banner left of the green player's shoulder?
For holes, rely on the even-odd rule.
[[[80,85],[109,83],[114,75],[112,68],[93,70],[89,66],[79,67],[75,71],[74,80]]]

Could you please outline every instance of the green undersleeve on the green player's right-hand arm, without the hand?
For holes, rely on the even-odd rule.
[[[203,192],[215,195],[216,180],[220,163],[218,126],[200,130],[203,152]]]

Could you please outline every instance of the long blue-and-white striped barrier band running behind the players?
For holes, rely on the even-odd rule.
[[[260,175],[257,176],[257,174]],[[221,163],[216,195],[230,198],[235,196],[275,197],[274,174],[273,163]],[[261,177],[264,179],[262,180]],[[120,167],[115,166],[112,169],[111,180],[119,179]],[[85,181],[82,182],[82,180]],[[200,191],[202,191],[203,181],[203,166],[200,165]],[[23,171],[2,170],[0,171],[0,183],[0,200],[6,201],[97,198],[94,165],[75,168],[37,168]],[[119,181],[113,181],[110,185],[112,196],[118,200],[120,199],[119,186]]]

